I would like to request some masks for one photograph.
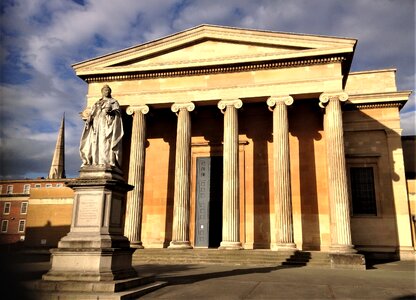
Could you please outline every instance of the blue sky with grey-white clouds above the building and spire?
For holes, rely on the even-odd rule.
[[[397,68],[415,88],[414,0],[3,0],[0,178],[47,176],[63,113],[66,171],[78,174],[87,84],[71,65],[200,24],[358,39],[353,71]],[[416,134],[412,94],[401,111]]]

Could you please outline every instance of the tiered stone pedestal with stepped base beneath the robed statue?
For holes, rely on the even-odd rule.
[[[86,166],[68,186],[75,191],[71,230],[51,250],[52,267],[37,289],[64,298],[93,293],[97,299],[123,289],[137,291],[138,285],[152,281],[139,278],[131,264],[134,249],[123,235],[123,215],[126,193],[133,187],[121,172]]]

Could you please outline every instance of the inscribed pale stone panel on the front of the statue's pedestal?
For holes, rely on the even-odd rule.
[[[80,196],[78,198],[76,226],[98,226],[100,224],[99,204],[99,194]]]

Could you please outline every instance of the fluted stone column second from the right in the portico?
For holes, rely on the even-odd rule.
[[[270,97],[267,105],[273,109],[274,207],[277,226],[276,243],[272,250],[295,250],[293,241],[292,195],[290,187],[289,122],[286,106],[290,96]]]

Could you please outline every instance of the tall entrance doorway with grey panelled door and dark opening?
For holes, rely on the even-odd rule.
[[[222,156],[196,159],[195,247],[218,248],[222,239]]]

